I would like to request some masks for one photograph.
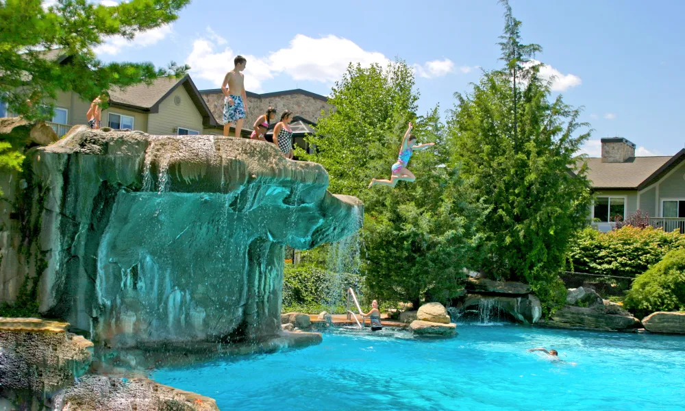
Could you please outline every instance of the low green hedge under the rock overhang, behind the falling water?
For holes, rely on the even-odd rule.
[[[283,312],[345,313],[345,291],[360,290],[361,277],[322,269],[317,264],[286,264],[283,271]]]

